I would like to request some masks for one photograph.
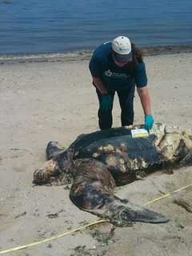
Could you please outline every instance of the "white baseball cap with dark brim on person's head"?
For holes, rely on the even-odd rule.
[[[112,41],[112,49],[114,50],[114,58],[118,62],[126,62],[132,59],[131,42],[129,38],[119,36]]]

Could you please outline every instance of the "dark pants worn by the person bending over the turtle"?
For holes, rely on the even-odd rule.
[[[112,110],[113,105],[109,111],[102,111],[101,102],[102,102],[102,94],[96,89],[98,94],[98,125],[101,130],[109,129],[113,123]],[[131,90],[117,90],[118,101],[122,109],[121,120],[122,126],[130,126],[134,122],[134,86]],[[114,102],[114,93],[115,91],[111,91],[109,94],[113,98]]]

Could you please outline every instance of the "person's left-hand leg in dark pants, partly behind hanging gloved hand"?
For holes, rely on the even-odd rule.
[[[102,94],[99,92],[98,89],[96,89],[97,95],[98,95],[98,102],[99,102],[99,109],[98,109],[98,126],[101,130],[109,129],[112,126],[113,123],[113,117],[112,117],[112,110],[113,110],[113,104],[110,110],[103,111],[101,109],[101,103],[102,103]],[[110,93],[111,97],[114,100],[114,92]]]

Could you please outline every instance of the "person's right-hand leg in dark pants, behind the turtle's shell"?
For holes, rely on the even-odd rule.
[[[134,123],[134,89],[133,86],[130,90],[119,90],[117,92],[122,109],[122,126],[130,126]]]

